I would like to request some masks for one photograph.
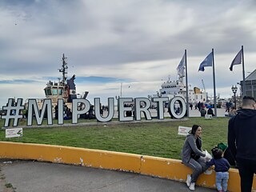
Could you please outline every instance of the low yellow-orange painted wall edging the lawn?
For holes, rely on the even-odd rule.
[[[124,170],[180,182],[186,182],[186,175],[192,173],[192,170],[184,166],[180,160],[170,158],[18,142],[0,142],[0,158],[33,159],[108,170]],[[215,172],[210,168],[206,174],[200,175],[197,185],[214,188],[214,183]],[[255,176],[253,188],[256,190]],[[238,170],[230,169],[228,190],[240,191]]]

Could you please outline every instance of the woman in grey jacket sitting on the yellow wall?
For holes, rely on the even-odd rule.
[[[200,174],[207,170],[206,162],[203,158],[206,152],[202,151],[202,127],[198,125],[192,126],[191,133],[186,136],[184,146],[182,148],[182,163],[189,166],[193,173],[187,175],[186,185],[190,190],[194,190],[195,182]]]

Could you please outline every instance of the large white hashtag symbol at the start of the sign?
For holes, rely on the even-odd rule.
[[[22,106],[22,98],[18,98],[17,105],[13,104],[13,99],[9,98],[7,106],[3,106],[2,110],[6,110],[6,115],[2,115],[2,118],[5,118],[5,127],[10,126],[10,119],[14,119],[13,126],[18,126],[18,120],[22,118],[22,114],[20,114],[20,110],[24,110],[24,106]]]

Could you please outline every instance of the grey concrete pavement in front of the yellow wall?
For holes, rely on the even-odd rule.
[[[164,192],[190,191],[186,183],[82,166],[0,159],[2,185],[10,192]],[[12,186],[6,188],[5,184]],[[196,191],[216,191],[196,187]]]

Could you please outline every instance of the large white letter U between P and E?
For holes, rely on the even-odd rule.
[[[108,98],[108,114],[106,118],[102,118],[100,98],[94,98],[95,117],[99,122],[110,122],[114,117],[114,98]]]

